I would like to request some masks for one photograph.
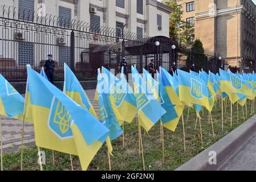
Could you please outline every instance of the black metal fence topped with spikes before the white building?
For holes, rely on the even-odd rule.
[[[156,42],[160,46],[156,46]],[[176,49],[173,49],[176,45]],[[59,16],[39,16],[35,12],[3,6],[0,9],[0,73],[10,81],[26,80],[26,65],[40,71],[47,55],[56,61],[55,80],[64,79],[64,63],[68,64],[79,80],[96,79],[101,66],[118,69],[121,57],[142,72],[154,57],[156,67],[169,70],[173,62],[186,69],[189,61],[200,54],[205,57],[205,70],[218,71],[214,53],[178,47],[164,36],[142,36],[132,32],[94,27],[94,24]],[[192,56],[189,56],[192,55]],[[185,60],[191,57],[189,61]]]

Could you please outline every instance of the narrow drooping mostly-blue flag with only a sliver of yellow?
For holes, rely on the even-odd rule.
[[[98,69],[98,74],[97,100],[99,101],[99,119],[101,123],[103,123],[103,125],[109,129],[110,140],[114,140],[123,134],[123,130],[120,127],[123,121],[121,121],[120,113],[113,109],[113,102],[111,102],[112,98],[109,90],[110,82],[108,82],[108,75],[103,73],[101,74],[100,69]],[[119,120],[117,117],[119,117]]]

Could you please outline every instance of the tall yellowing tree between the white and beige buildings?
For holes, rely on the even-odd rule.
[[[170,39],[181,43],[184,47],[189,47],[193,44],[194,28],[186,25],[182,20],[182,8],[177,5],[176,0],[165,2],[166,6],[172,9],[169,16],[169,34]]]

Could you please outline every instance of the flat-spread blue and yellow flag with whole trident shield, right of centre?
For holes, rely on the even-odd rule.
[[[181,101],[205,106],[210,111],[208,88],[200,77],[178,69],[178,92]]]

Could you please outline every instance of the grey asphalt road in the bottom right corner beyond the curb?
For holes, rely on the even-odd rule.
[[[256,133],[227,160],[220,171],[256,171]]]

